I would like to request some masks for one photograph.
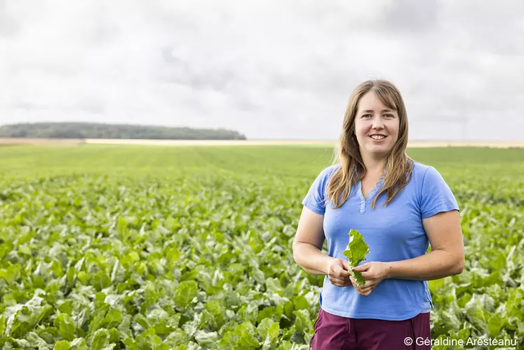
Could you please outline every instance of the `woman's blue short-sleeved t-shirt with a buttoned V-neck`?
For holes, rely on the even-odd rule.
[[[424,255],[429,240],[422,219],[440,212],[459,210],[450,187],[438,171],[415,161],[412,178],[387,207],[384,192],[373,210],[371,203],[384,182],[384,175],[364,199],[361,182],[351,189],[351,197],[340,208],[324,203],[330,176],[339,165],[321,171],[311,185],[302,204],[323,214],[323,229],[328,242],[328,255],[347,260],[342,252],[349,243],[349,230],[358,230],[370,253],[363,262],[394,262]],[[363,297],[352,285],[337,287],[325,276],[320,295],[322,309],[330,314],[349,318],[377,318],[401,321],[429,312],[433,308],[427,281],[386,278]]]

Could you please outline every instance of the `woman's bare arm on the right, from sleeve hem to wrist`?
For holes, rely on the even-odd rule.
[[[438,213],[422,220],[431,252],[409,260],[387,262],[385,278],[430,281],[462,273],[464,241],[457,210]]]

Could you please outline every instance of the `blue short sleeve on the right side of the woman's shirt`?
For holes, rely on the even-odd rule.
[[[457,199],[450,187],[444,181],[442,175],[432,166],[424,173],[420,195],[422,219],[437,213],[459,210]]]

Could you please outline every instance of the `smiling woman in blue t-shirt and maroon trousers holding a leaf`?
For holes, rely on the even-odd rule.
[[[338,161],[302,201],[295,262],[325,275],[311,349],[429,349],[427,281],[460,274],[459,207],[438,171],[405,154],[408,119],[388,81],[365,81],[344,116]],[[349,230],[369,246],[356,285],[342,254]],[[328,255],[321,253],[328,241]],[[429,243],[431,252],[427,253]]]

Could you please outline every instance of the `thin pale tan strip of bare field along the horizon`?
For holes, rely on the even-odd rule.
[[[304,145],[334,147],[336,141],[329,140],[130,140],[130,139],[53,139],[53,138],[10,138],[0,137],[0,145],[13,144],[130,144],[156,146],[271,146],[271,145]],[[410,148],[431,147],[491,147],[491,148],[524,148],[521,142],[490,141],[412,141]]]

